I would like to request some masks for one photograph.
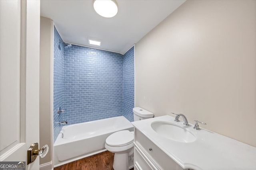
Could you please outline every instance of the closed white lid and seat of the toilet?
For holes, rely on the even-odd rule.
[[[130,145],[134,141],[134,135],[128,130],[118,131],[111,134],[106,139],[106,144],[110,147],[123,147]]]

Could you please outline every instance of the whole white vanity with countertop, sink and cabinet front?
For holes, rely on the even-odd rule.
[[[132,125],[135,170],[256,170],[256,147],[203,128],[198,131],[170,115]],[[188,133],[194,140],[186,141]]]

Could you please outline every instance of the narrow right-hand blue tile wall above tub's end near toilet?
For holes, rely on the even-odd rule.
[[[134,121],[134,47],[124,54],[123,61],[123,115]]]

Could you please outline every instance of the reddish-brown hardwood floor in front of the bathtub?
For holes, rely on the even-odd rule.
[[[105,151],[58,166],[54,170],[114,170],[113,162],[114,153]],[[134,168],[131,170],[134,170]]]

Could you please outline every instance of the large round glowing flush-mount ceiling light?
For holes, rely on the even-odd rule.
[[[111,18],[118,12],[115,0],[94,0],[93,7],[100,16],[106,18]]]

